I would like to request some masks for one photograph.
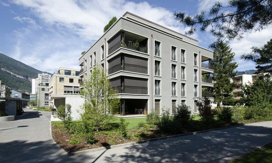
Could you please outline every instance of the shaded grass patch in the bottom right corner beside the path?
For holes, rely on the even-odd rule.
[[[272,143],[230,163],[272,163]]]

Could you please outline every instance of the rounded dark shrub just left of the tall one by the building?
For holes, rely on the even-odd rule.
[[[174,113],[174,119],[181,125],[188,124],[191,117],[190,107],[186,105],[178,105]]]

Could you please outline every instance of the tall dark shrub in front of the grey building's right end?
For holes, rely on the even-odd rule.
[[[208,97],[199,99],[196,103],[201,120],[206,124],[214,122],[215,110],[212,110],[211,100]]]

